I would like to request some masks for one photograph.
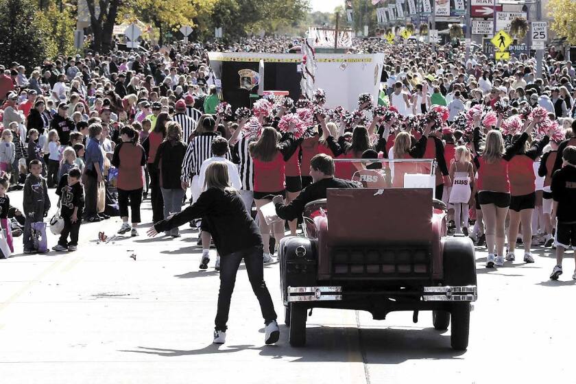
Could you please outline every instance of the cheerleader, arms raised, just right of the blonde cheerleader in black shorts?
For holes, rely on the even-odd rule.
[[[524,242],[524,261],[533,263],[534,258],[530,252],[532,245],[532,213],[536,206],[536,175],[534,174],[534,161],[542,154],[542,149],[550,141],[553,131],[533,145],[529,145],[528,138],[536,124],[534,119],[527,125],[525,131],[520,135],[515,135],[512,139],[512,158],[508,160],[508,175],[510,180],[510,222],[508,227],[508,252],[507,261],[514,261],[514,250],[516,248],[516,237],[518,227],[522,222],[522,240]]]

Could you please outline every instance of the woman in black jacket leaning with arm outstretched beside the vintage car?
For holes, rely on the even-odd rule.
[[[230,298],[236,274],[244,259],[252,290],[260,302],[265,321],[265,343],[274,344],[280,337],[272,298],[264,281],[264,250],[260,230],[250,216],[237,190],[230,187],[228,166],[217,161],[206,168],[206,191],[184,211],[159,221],[148,236],[171,230],[193,219],[208,221],[220,257],[220,291],[215,319],[214,343],[224,344]]]

